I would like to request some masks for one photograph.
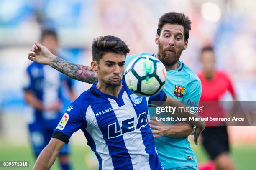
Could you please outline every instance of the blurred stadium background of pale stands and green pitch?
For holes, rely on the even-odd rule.
[[[0,0],[0,161],[28,160],[29,169],[35,161],[28,142],[22,86],[23,73],[31,63],[27,53],[42,27],[57,30],[59,51],[65,59],[88,65],[91,42],[101,35],[120,37],[131,54],[156,52],[158,18],[170,11],[183,12],[192,20],[192,30],[181,61],[199,71],[200,48],[212,44],[217,68],[230,75],[238,99],[255,101],[255,9],[254,0]],[[89,86],[75,81],[77,95]],[[237,169],[255,170],[256,127],[228,130]],[[74,169],[90,170],[88,164],[97,164],[81,132],[74,134],[71,143]],[[201,146],[193,145],[193,149],[199,162],[208,159]]]

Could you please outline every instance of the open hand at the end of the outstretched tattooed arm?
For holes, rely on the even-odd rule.
[[[51,61],[54,60],[54,56],[45,46],[35,42],[31,52],[28,53],[28,59],[41,64],[50,65]]]

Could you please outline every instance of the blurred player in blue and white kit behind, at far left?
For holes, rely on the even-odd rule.
[[[56,54],[58,37],[54,30],[43,30],[41,43],[51,53]],[[62,117],[63,104],[67,105],[67,99],[63,96],[63,90],[68,89],[72,101],[76,98],[72,88],[72,79],[60,74],[51,67],[36,62],[31,63],[26,69],[26,84],[24,97],[26,102],[33,107],[32,113],[26,113],[28,117],[29,137],[36,157],[49,143],[55,127]],[[59,163],[63,170],[70,170],[69,145],[66,144],[59,152]]]

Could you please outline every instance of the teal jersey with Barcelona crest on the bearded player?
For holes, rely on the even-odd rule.
[[[155,57],[155,54],[151,53],[129,55],[125,59],[125,68],[129,62],[141,55]],[[179,61],[179,65],[178,69],[167,71],[164,92],[188,107],[195,107],[201,96],[201,81],[184,63]],[[157,137],[155,145],[164,169],[197,166],[195,153],[192,151],[187,137]]]

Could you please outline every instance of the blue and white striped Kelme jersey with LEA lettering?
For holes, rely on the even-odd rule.
[[[68,107],[53,137],[67,143],[82,129],[100,170],[162,170],[148,124],[148,103],[165,101],[166,94],[137,96],[122,79],[116,98],[102,93],[96,84]]]

